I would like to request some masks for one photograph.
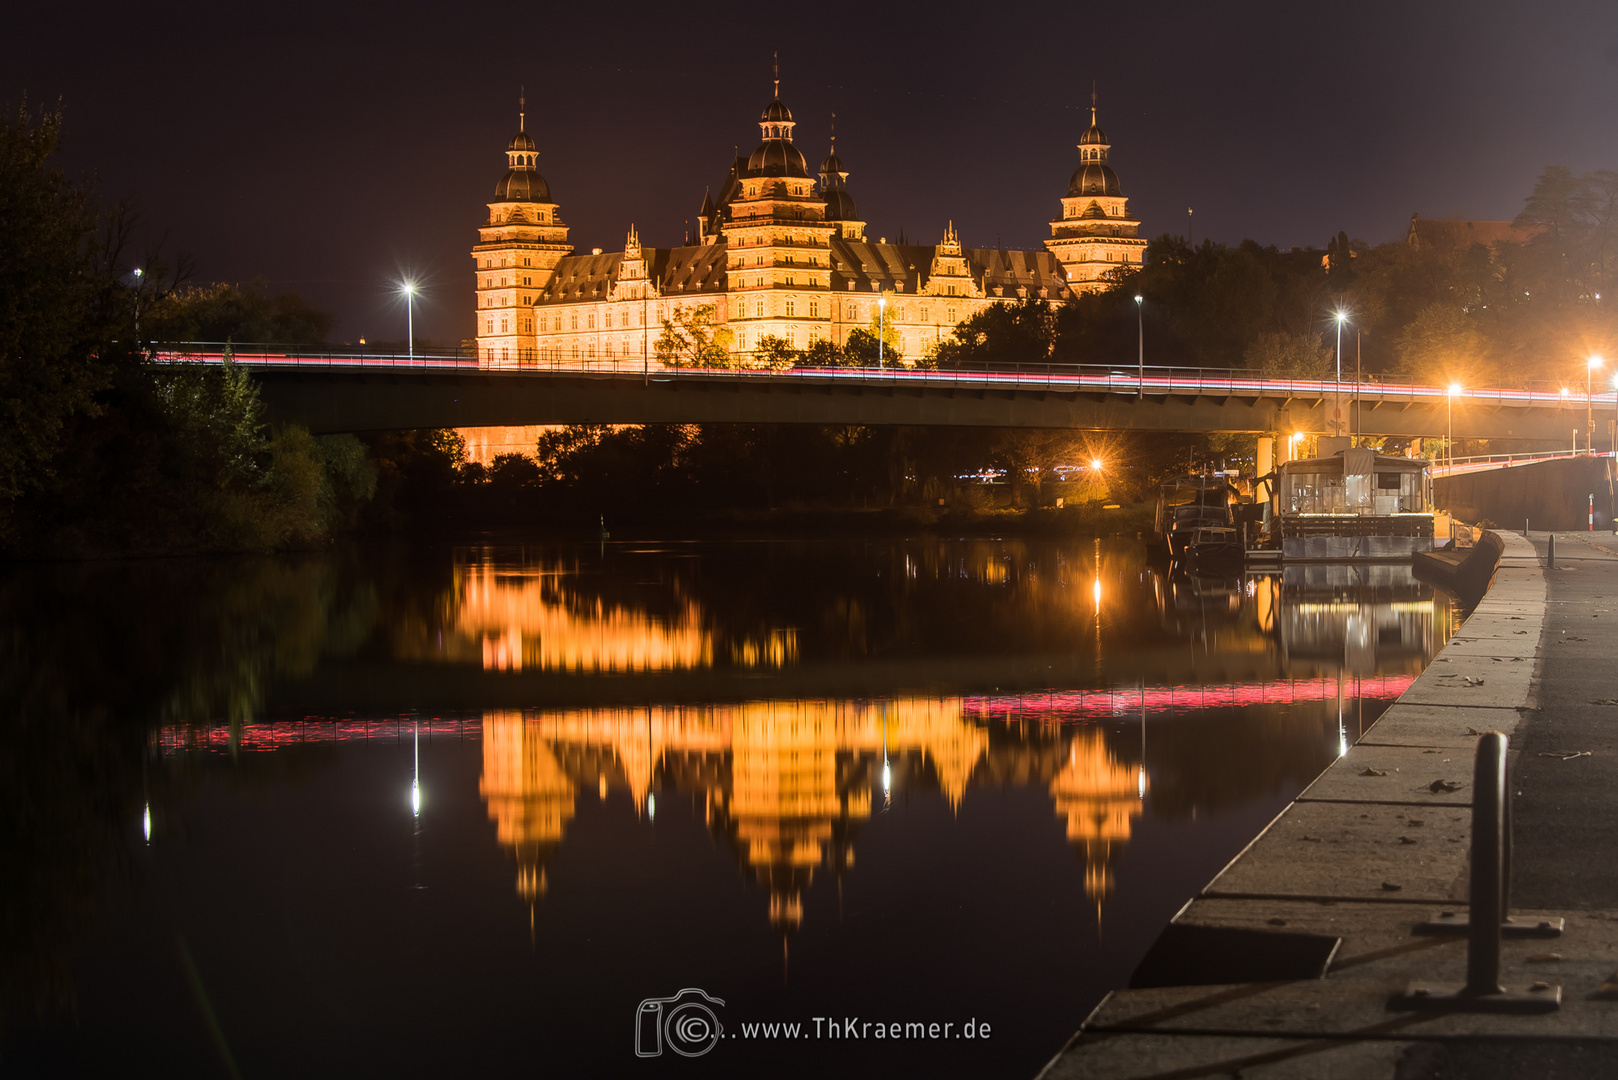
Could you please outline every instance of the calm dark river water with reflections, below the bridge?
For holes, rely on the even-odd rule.
[[[914,541],[36,567],[0,617],[6,1075],[1018,1077],[1455,614]]]

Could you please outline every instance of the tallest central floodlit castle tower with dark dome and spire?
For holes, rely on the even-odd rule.
[[[804,348],[827,337],[830,325],[830,244],[837,225],[825,220],[827,202],[793,146],[793,126],[777,73],[775,97],[759,117],[762,141],[736,170],[730,215],[720,227],[728,322],[741,351],[765,335]]]

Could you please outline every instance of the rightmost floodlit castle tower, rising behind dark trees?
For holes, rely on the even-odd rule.
[[[1146,257],[1141,222],[1129,217],[1118,173],[1107,164],[1110,149],[1107,133],[1095,121],[1092,94],[1091,126],[1079,136],[1079,167],[1068,181],[1061,217],[1050,223],[1045,241],[1074,293],[1102,291],[1120,272],[1139,270]]]

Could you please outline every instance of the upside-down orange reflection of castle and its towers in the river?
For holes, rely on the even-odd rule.
[[[605,798],[625,785],[636,810],[652,813],[654,790],[671,785],[702,800],[709,827],[769,889],[770,921],[783,928],[803,920],[822,866],[853,868],[854,832],[911,777],[935,782],[951,808],[981,769],[1045,785],[1097,900],[1146,797],[1144,772],[1110,755],[1099,730],[990,751],[987,725],[961,698],[487,712],[482,737],[481,792],[524,899],[544,894],[581,792]]]

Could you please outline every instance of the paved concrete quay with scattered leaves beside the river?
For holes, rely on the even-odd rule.
[[[1364,737],[1175,916],[1040,1080],[1618,1075],[1618,538],[1498,534],[1493,586]],[[1464,983],[1472,753],[1511,740],[1508,989],[1539,1014],[1411,1012]],[[1336,944],[1340,941],[1340,944]],[[1335,950],[1332,946],[1335,944]],[[1322,973],[1324,972],[1324,973]]]

